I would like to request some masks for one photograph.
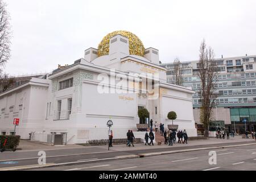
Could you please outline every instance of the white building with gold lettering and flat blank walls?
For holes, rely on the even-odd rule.
[[[1,93],[2,134],[13,134],[13,119],[19,118],[16,135],[23,139],[32,133],[40,142],[86,143],[108,139],[106,123],[112,119],[114,139],[124,139],[127,130],[138,130],[138,109],[144,107],[149,119],[164,123],[166,129],[172,124],[167,114],[175,111],[174,125],[185,129],[189,137],[197,136],[192,106],[195,92],[168,84],[158,49],[134,48],[140,40],[127,34],[119,31],[110,36],[109,46],[103,45],[109,50],[105,55],[100,55],[100,49],[86,49],[84,58],[53,71],[47,79],[32,78]],[[131,54],[140,48],[143,56]]]

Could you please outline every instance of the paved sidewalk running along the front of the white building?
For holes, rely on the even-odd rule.
[[[126,144],[118,144],[110,147],[110,151],[131,151],[131,150],[150,150],[156,148],[175,148],[175,147],[185,147],[185,146],[207,146],[210,144],[232,144],[232,143],[248,143],[255,142],[255,139],[242,139],[242,136],[235,136],[230,139],[216,139],[210,138],[207,140],[192,140],[188,141],[188,144],[180,144],[175,142],[173,146],[167,146],[163,144],[158,146],[157,143],[154,146],[145,146],[144,144],[134,144],[135,147],[127,147]],[[256,143],[256,142],[255,142]],[[47,146],[46,144],[34,143],[27,140],[20,140],[18,148],[22,148],[20,151],[38,151],[38,150],[65,150],[65,149],[76,149],[83,148],[85,151],[89,149],[90,152],[105,152],[108,151],[108,146],[81,146],[79,144],[72,144],[67,146]]]

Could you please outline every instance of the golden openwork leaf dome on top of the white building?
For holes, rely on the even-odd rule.
[[[109,55],[109,40],[115,35],[122,35],[129,39],[130,55],[144,56],[144,46],[138,36],[129,31],[114,31],[106,35],[98,45],[98,56]]]

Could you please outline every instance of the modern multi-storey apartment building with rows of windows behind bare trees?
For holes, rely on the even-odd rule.
[[[245,126],[249,131],[256,131],[256,55],[214,61],[218,66],[218,98],[212,113],[213,123],[225,123],[227,129],[235,129],[237,133],[244,133]],[[174,63],[165,63],[162,67],[167,68],[167,82],[175,84]],[[196,91],[193,94],[193,112],[195,122],[200,124],[199,61],[181,61],[180,67],[182,85]]]

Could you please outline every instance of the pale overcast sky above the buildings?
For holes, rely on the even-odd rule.
[[[197,60],[205,38],[215,57],[256,55],[255,0],[5,0],[11,15],[11,75],[73,64],[115,30],[159,49],[163,63]]]

